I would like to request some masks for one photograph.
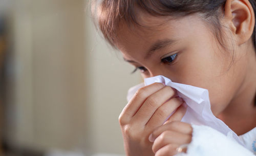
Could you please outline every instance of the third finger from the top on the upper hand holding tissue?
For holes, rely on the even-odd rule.
[[[181,98],[172,98],[165,102],[156,110],[146,126],[155,129],[156,127],[162,125],[164,121],[170,116],[170,114],[172,114],[182,103],[183,100]]]

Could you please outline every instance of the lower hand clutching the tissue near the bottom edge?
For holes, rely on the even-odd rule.
[[[179,146],[191,142],[192,131],[193,128],[190,124],[179,121],[168,122],[158,127],[149,137],[149,140],[154,142],[152,149],[155,156],[177,154]]]

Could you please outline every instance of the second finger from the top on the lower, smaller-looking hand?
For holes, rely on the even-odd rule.
[[[164,131],[160,136],[154,141],[152,150],[154,152],[158,151],[160,148],[166,146],[167,144],[188,144],[191,142],[191,135],[185,135],[184,133],[176,131]]]

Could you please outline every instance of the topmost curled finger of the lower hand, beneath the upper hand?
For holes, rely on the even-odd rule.
[[[164,125],[159,126],[158,128],[156,128],[152,132],[152,134],[150,135],[150,137],[148,139],[151,142],[154,142],[155,139],[159,135],[161,135],[162,132],[164,132],[166,130],[172,130],[172,131],[184,133],[186,135],[191,135],[192,132],[193,132],[193,128],[191,127],[190,124],[185,123],[185,122],[180,122],[180,121],[174,121],[174,122],[170,122],[170,123],[164,124]]]

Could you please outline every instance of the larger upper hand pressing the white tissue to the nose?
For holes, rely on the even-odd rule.
[[[155,155],[148,140],[157,127],[167,122],[180,121],[186,112],[183,101],[175,97],[176,90],[162,83],[140,88],[119,116],[124,148],[127,156]]]

